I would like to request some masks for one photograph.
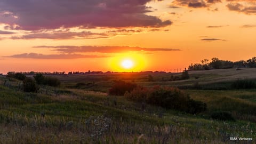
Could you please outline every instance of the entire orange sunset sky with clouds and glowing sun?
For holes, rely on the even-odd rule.
[[[252,58],[255,37],[254,0],[0,1],[3,74],[174,72],[213,57]]]

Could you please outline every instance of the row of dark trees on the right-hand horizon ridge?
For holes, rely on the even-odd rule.
[[[220,60],[219,58],[212,58],[209,62],[208,59],[201,60],[201,63],[191,63],[188,70],[210,70],[210,69],[227,69],[227,68],[255,68],[256,57],[248,60],[230,61]]]

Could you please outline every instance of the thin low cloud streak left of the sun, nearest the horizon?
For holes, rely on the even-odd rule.
[[[6,58],[25,58],[25,59],[81,59],[81,58],[106,58],[105,55],[83,55],[83,54],[39,54],[39,53],[22,53]]]

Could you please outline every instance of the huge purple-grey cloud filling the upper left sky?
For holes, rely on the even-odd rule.
[[[170,20],[147,15],[151,0],[3,0],[0,21],[9,29],[39,30],[60,27],[165,27]],[[159,1],[159,0],[158,0]]]

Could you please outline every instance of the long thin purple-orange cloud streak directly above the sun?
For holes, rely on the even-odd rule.
[[[145,48],[145,47],[131,47],[131,46],[34,46],[35,48],[53,49],[60,53],[85,53],[85,52],[98,52],[98,53],[122,53],[134,51],[180,51],[179,49],[165,49],[165,48]]]

